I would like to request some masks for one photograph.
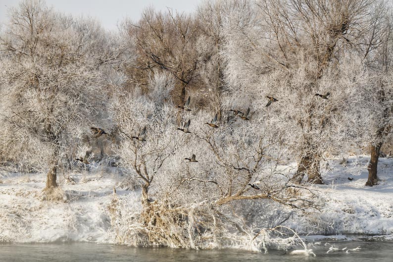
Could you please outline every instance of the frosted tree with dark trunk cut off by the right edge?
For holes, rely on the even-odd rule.
[[[358,87],[354,98],[355,105],[362,115],[364,141],[369,143],[371,157],[368,165],[366,186],[378,182],[377,166],[382,146],[392,139],[393,124],[393,86],[392,86],[392,48],[393,24],[391,5],[382,1],[376,3],[372,27],[364,36],[359,52],[369,71],[368,81]]]

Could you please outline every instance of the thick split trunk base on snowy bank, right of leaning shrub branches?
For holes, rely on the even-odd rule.
[[[306,155],[301,157],[295,175],[291,181],[300,184],[305,174],[308,174],[307,181],[313,184],[323,184],[322,176],[319,172],[319,158]]]

